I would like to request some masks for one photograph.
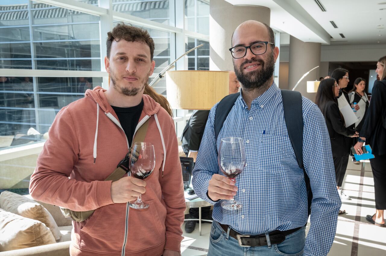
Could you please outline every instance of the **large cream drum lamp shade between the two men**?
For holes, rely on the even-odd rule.
[[[229,72],[167,71],[166,93],[174,109],[210,110],[229,94]]]

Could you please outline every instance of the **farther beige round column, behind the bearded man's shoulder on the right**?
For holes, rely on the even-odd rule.
[[[320,43],[305,43],[289,37],[288,89],[292,90],[298,80],[315,66],[320,66]],[[311,71],[296,87],[301,95],[315,100],[315,93],[307,93],[307,81],[319,80],[320,67]]]

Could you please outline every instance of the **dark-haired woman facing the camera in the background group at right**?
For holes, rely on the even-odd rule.
[[[354,105],[354,102],[359,105],[359,110],[356,112],[358,121],[355,123],[355,130],[361,131],[363,123],[364,123],[364,117],[367,113],[367,108],[369,107],[369,100],[367,98],[367,94],[364,92],[364,88],[366,87],[366,80],[359,77],[354,81],[354,87],[349,92],[349,99],[350,99],[350,105]],[[354,144],[357,143],[357,139],[354,138]],[[355,157],[352,156],[352,161],[354,161],[354,164],[359,165],[359,161],[355,160]]]

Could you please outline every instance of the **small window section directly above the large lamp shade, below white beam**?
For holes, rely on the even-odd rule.
[[[185,38],[187,51],[201,44],[203,46],[188,53],[188,70],[209,70],[209,42],[191,37]]]

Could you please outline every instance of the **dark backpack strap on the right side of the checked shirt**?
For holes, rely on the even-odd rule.
[[[298,165],[303,170],[308,196],[308,215],[311,214],[312,191],[310,179],[303,165],[303,111],[301,94],[298,91],[281,90],[283,98],[284,119],[289,140],[295,152]]]

